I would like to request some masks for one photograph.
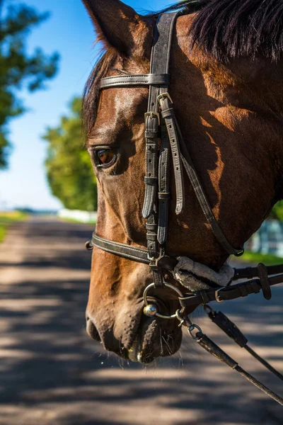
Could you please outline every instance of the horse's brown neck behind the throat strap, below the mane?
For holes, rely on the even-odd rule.
[[[197,48],[188,54],[177,29],[171,62],[176,115],[216,218],[229,242],[241,246],[282,188],[281,64],[243,59],[224,65]],[[188,198],[192,211],[193,203]]]

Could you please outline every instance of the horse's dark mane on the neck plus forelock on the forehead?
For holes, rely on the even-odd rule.
[[[260,54],[279,60],[283,52],[283,0],[187,0],[151,13],[179,11],[196,13],[188,31],[190,45],[199,47],[217,60],[233,57],[254,58]],[[86,132],[93,127],[98,104],[98,84],[117,57],[109,49],[100,57],[89,77],[83,95],[83,121]]]

